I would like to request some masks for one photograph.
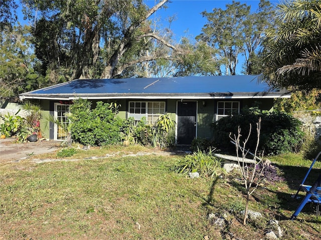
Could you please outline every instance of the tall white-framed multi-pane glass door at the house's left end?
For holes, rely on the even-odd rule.
[[[69,112],[68,104],[55,103],[55,119],[63,124],[68,123],[67,116],[65,113]],[[55,124],[55,140],[64,140],[67,137],[67,132],[61,126]]]

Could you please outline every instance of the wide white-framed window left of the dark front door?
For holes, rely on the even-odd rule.
[[[159,115],[165,114],[165,101],[130,101],[128,117],[140,120],[145,116],[148,123],[153,124]]]

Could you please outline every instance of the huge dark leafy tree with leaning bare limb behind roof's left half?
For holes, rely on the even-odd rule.
[[[117,77],[139,62],[164,57],[142,54],[155,42],[176,49],[147,20],[167,1],[148,8],[142,0],[24,0],[29,17],[41,16],[33,34],[44,70],[63,70],[69,79]]]

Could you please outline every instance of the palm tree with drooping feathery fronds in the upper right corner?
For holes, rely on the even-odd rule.
[[[321,1],[288,0],[277,6],[278,27],[267,32],[264,79],[276,87],[321,89]]]

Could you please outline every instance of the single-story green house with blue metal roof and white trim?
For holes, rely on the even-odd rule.
[[[269,91],[257,81],[258,75],[184,76],[155,78],[76,79],[19,94],[21,100],[37,99],[44,115],[60,120],[72,100],[82,97],[93,101],[117,102],[119,116],[145,116],[154,123],[159,114],[169,113],[176,121],[176,141],[190,144],[194,137],[212,137],[211,124],[236,114],[245,106],[259,102],[264,110],[273,109],[273,99],[290,97],[286,91]],[[94,105],[93,105],[94,106]],[[41,126],[46,124],[41,123]],[[54,124],[42,129],[50,139],[63,139]]]

